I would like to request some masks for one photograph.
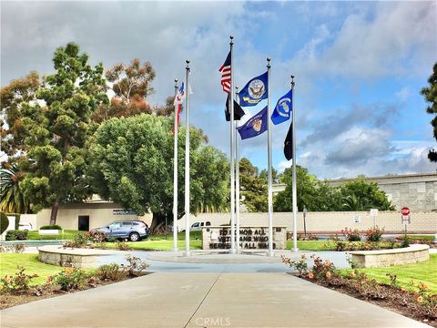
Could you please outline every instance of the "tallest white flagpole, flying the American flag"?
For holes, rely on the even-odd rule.
[[[234,36],[230,37],[230,250],[235,254],[235,163],[234,163]]]

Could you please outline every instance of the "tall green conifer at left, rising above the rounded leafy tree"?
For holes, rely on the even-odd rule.
[[[56,224],[59,204],[84,200],[90,192],[85,142],[93,111],[108,101],[103,65],[91,67],[79,46],[57,48],[53,63],[56,73],[36,92],[40,101],[23,104],[28,151],[21,184],[34,205],[52,208],[50,224]]]

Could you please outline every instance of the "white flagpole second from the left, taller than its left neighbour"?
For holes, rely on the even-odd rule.
[[[190,255],[189,252],[189,60],[186,60],[187,63],[187,72],[186,72],[186,89],[185,89],[185,97],[186,97],[186,121],[187,128],[185,132],[185,255]]]

